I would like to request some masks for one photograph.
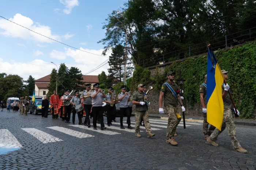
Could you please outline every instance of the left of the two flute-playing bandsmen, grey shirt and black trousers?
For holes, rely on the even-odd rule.
[[[93,129],[97,130],[97,116],[99,117],[99,121],[101,123],[101,130],[105,130],[106,127],[103,122],[103,107],[102,107],[102,97],[106,98],[106,95],[103,91],[99,88],[99,83],[95,83],[94,91],[91,92],[91,98],[93,98],[92,105],[93,105]]]

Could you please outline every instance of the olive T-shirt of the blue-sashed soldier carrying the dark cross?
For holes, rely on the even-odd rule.
[[[173,84],[171,84],[168,80],[166,81],[166,83],[168,83],[172,89],[174,90],[174,92],[176,92],[176,95],[178,93],[180,93],[180,90],[178,88],[178,85],[175,84],[173,82]],[[163,96],[163,104],[165,106],[173,106],[173,107],[176,107],[178,105],[177,103],[177,100],[176,98],[173,96],[173,93],[171,92],[171,90],[167,87],[167,85],[165,84],[162,84],[162,87],[161,87],[161,91],[162,92],[165,92],[164,96]]]

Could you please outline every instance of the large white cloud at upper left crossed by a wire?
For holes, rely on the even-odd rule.
[[[61,37],[59,35],[53,35],[50,27],[43,26],[40,24],[34,24],[33,20],[31,20],[26,16],[21,15],[20,13],[17,13],[13,18],[10,18],[9,20],[17,24],[20,24],[24,27],[27,27],[30,30],[38,32],[39,34],[42,34],[42,35],[48,36],[49,38],[60,41]],[[29,31],[26,28],[18,26],[5,19],[0,19],[0,34],[8,37],[18,37],[22,39],[34,40],[36,42],[41,42],[41,43],[53,42],[53,40],[50,40],[49,38],[36,34],[32,31]]]

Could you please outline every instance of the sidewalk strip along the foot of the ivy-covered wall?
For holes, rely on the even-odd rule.
[[[132,113],[132,116],[135,116],[134,112]],[[166,114],[149,114],[149,117],[155,118],[155,119],[167,119],[168,115],[166,115]],[[185,120],[203,122],[203,116],[185,116]],[[256,120],[251,120],[251,119],[234,118],[234,123],[237,125],[256,126]]]

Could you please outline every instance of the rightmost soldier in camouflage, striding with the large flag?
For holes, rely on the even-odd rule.
[[[223,77],[224,77],[224,83],[227,82],[228,79],[228,72],[225,70],[221,70]],[[238,142],[236,138],[236,125],[234,124],[233,117],[232,117],[232,110],[233,110],[233,104],[231,101],[231,98],[228,93],[229,85],[223,84],[222,85],[222,98],[224,103],[224,113],[223,113],[223,121],[222,121],[222,127],[221,131],[219,131],[217,128],[212,132],[211,136],[207,139],[207,142],[211,143],[213,146],[219,146],[217,143],[215,143],[215,140],[217,139],[218,135],[221,134],[227,127],[227,130],[229,132],[229,136],[231,139],[231,143],[233,144],[234,150],[246,153],[247,150],[241,147],[240,143]],[[238,112],[239,115],[239,112]]]

